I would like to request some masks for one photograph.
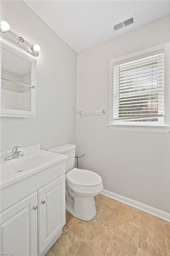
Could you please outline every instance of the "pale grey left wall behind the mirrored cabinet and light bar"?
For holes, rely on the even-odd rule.
[[[12,31],[41,47],[36,118],[1,117],[1,151],[75,143],[77,53],[23,1],[1,1],[0,9]]]

